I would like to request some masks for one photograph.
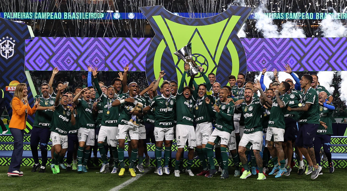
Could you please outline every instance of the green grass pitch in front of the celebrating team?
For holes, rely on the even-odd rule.
[[[49,167],[48,167],[49,168]],[[32,173],[31,167],[21,167],[24,172],[23,177],[7,177],[7,166],[0,166],[0,190],[1,191],[108,191],[115,186],[129,180],[130,176],[126,169],[124,177],[118,177],[118,174],[99,174],[99,169],[90,169],[88,173],[77,174],[76,171],[69,173],[61,171],[54,175],[51,171],[44,174]],[[257,175],[252,175],[246,180],[240,180],[239,177],[230,176],[227,180],[220,180],[219,176],[205,178],[201,176],[188,176],[181,174],[180,177],[163,175],[159,177],[151,169],[147,174],[140,177],[122,190],[126,191],[203,191],[203,190],[256,190],[256,191],[293,191],[293,190],[315,190],[315,191],[340,191],[347,188],[347,170],[335,169],[330,174],[327,168],[323,169],[323,175],[316,180],[311,180],[309,175],[297,175],[297,168],[288,177],[274,178],[266,176],[266,180],[257,181]],[[194,174],[198,169],[193,169]],[[233,175],[234,169],[229,169],[230,175]]]

